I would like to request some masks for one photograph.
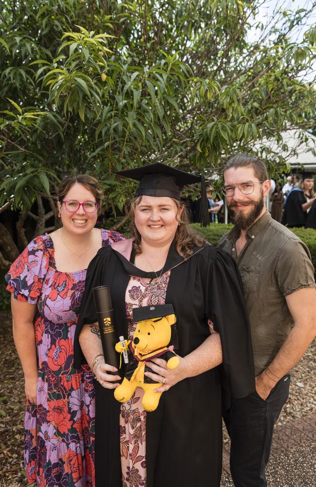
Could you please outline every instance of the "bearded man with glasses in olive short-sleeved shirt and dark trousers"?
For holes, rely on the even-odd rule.
[[[235,259],[242,277],[256,370],[256,391],[231,398],[223,411],[231,439],[230,470],[236,487],[265,487],[289,371],[315,337],[314,268],[307,246],[266,210],[270,181],[261,160],[249,154],[232,157],[222,190],[235,226],[219,247]]]

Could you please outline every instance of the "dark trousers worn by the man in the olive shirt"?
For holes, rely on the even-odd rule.
[[[257,392],[231,398],[223,418],[231,440],[230,471],[235,487],[266,487],[272,433],[289,395],[290,375],[285,375],[264,401]]]

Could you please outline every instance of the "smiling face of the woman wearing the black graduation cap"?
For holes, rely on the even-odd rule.
[[[178,207],[172,198],[142,196],[135,207],[135,225],[141,240],[151,245],[171,242],[178,226],[177,213]]]

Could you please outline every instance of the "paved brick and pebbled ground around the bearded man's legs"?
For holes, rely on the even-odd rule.
[[[266,476],[269,487],[316,486],[316,413],[275,428]],[[223,450],[221,487],[234,487],[229,444]]]

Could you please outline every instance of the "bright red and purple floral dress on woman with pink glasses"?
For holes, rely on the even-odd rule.
[[[102,246],[123,237],[101,230]],[[93,377],[73,367],[73,337],[86,269],[56,270],[53,240],[36,237],[6,275],[17,300],[36,304],[37,406],[27,401],[24,464],[39,487],[94,487]]]

